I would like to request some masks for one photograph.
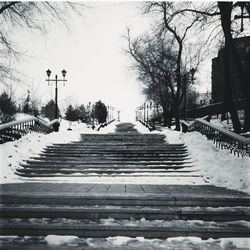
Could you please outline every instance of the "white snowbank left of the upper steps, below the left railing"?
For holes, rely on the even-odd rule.
[[[23,116],[22,116],[23,118]],[[68,128],[72,130],[67,130]],[[15,169],[32,156],[38,155],[43,148],[53,143],[69,143],[79,141],[82,133],[108,133],[114,132],[115,123],[110,124],[99,132],[92,130],[85,123],[62,120],[59,132],[39,134],[32,132],[19,140],[0,145],[0,183],[23,182],[25,178],[15,175]],[[26,179],[27,180],[27,179]]]

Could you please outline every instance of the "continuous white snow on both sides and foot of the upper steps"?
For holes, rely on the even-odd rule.
[[[111,133],[115,131],[117,122],[113,122],[99,132],[92,130],[84,123],[74,122],[69,125],[68,121],[62,120],[60,131],[51,134],[30,133],[20,140],[0,145],[0,182],[25,182],[28,178],[22,178],[14,174],[14,170],[31,156],[41,152],[47,145],[53,143],[68,143],[79,141],[81,133]],[[67,130],[71,127],[71,131]],[[136,123],[135,128],[141,133],[149,133],[142,124]],[[152,132],[159,133],[159,132]],[[236,157],[228,150],[217,148],[212,141],[198,132],[182,133],[164,129],[168,143],[185,143],[191,155],[192,170],[194,175],[201,177],[171,177],[171,176],[146,176],[146,177],[53,177],[34,178],[32,181],[57,181],[57,182],[81,182],[81,183],[121,183],[121,184],[190,184],[223,186],[250,193],[250,158]]]

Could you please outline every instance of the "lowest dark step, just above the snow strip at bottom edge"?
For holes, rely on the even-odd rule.
[[[43,236],[74,235],[78,237],[145,237],[167,238],[195,236],[201,238],[250,237],[249,223],[204,222],[204,221],[131,221],[131,220],[51,220],[30,219],[4,220],[0,228],[1,235]],[[59,221],[59,222],[58,222]],[[62,222],[61,222],[62,221]]]

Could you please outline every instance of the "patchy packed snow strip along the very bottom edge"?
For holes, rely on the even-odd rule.
[[[48,235],[44,236],[4,236],[0,237],[0,244],[15,243],[19,246],[37,247],[68,247],[91,249],[202,249],[202,250],[249,250],[249,238],[221,238],[202,240],[199,237],[171,237],[167,239],[146,239],[144,237],[116,236],[108,238],[79,238],[73,235]]]

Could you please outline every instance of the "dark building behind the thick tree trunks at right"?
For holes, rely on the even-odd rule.
[[[250,36],[235,38],[236,49],[239,53],[243,64],[246,62],[247,51],[250,49]],[[218,51],[218,56],[212,59],[212,100],[213,103],[222,102],[224,99],[225,79],[223,65],[224,48]],[[240,86],[239,79],[236,74],[234,62],[231,65],[231,79],[233,87],[233,98],[244,98],[244,92]]]

